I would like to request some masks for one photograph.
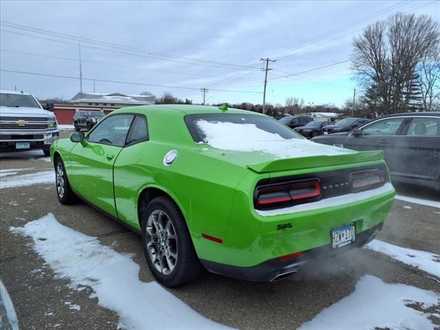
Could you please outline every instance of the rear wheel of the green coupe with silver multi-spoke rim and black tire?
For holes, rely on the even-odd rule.
[[[142,212],[142,245],[153,276],[167,287],[190,283],[202,270],[184,216],[168,197],[156,197]]]

